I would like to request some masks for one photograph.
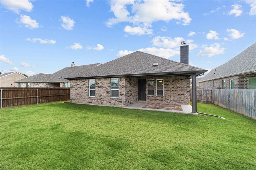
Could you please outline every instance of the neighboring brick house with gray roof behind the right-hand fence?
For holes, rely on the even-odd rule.
[[[199,84],[200,88],[256,89],[256,43],[212,69]]]

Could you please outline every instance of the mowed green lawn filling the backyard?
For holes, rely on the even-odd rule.
[[[0,169],[256,169],[256,121],[47,103],[0,110]]]

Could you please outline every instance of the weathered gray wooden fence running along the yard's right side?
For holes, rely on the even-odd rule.
[[[212,89],[213,104],[256,120],[256,90]]]

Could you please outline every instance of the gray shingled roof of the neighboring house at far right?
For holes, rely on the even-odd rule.
[[[201,81],[256,70],[256,42],[223,65],[212,69]]]

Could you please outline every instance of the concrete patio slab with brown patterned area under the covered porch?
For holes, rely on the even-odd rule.
[[[197,113],[192,113],[191,105],[183,105],[183,104],[138,101],[125,108],[141,109],[141,110],[149,110],[149,111],[175,112],[175,113],[184,113],[184,114],[197,114]]]

